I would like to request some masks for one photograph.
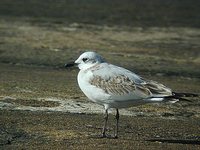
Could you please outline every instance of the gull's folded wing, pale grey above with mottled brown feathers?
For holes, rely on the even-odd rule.
[[[147,81],[124,68],[104,64],[93,70],[90,84],[102,89],[112,99],[123,101],[171,95],[171,90],[155,81]]]

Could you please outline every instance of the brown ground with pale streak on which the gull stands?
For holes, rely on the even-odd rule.
[[[189,103],[151,104],[120,110],[119,139],[98,138],[103,108],[81,93],[76,74],[77,70],[1,64],[1,148],[200,148],[197,98]],[[167,78],[170,85],[176,82],[177,88],[194,84],[188,91],[199,86],[199,79],[157,78],[163,81]],[[108,134],[112,135],[115,119],[114,112],[110,113]]]

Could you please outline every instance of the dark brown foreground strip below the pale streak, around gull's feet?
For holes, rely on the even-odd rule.
[[[1,110],[2,149],[199,149],[199,119],[120,118],[119,139],[98,138],[103,115]],[[113,134],[113,116],[109,134]]]

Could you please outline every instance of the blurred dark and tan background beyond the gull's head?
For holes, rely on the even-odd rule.
[[[0,62],[55,67],[95,50],[129,69],[197,77],[199,7],[198,0],[1,0]]]

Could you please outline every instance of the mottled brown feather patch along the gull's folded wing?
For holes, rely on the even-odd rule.
[[[140,92],[146,96],[171,95],[171,90],[162,84],[154,81],[144,81],[143,83],[137,84],[124,75],[107,79],[103,79],[97,75],[90,80],[90,84],[101,88],[105,93],[111,95],[126,95],[133,92]]]

